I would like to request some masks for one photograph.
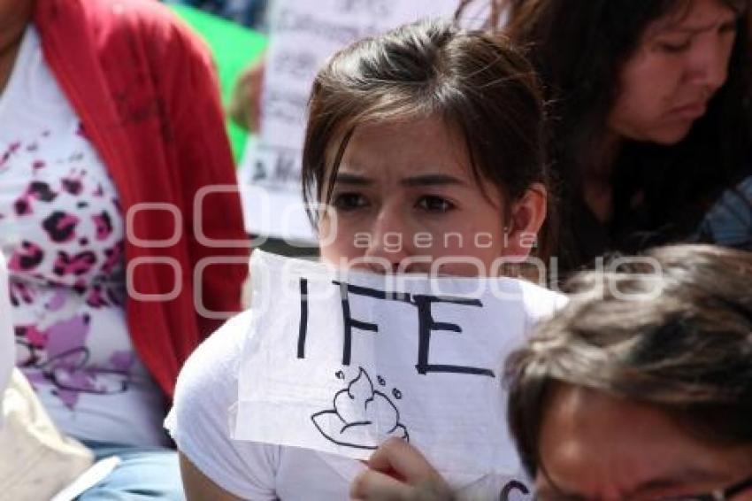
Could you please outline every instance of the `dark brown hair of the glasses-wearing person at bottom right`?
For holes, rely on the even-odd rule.
[[[650,405],[708,443],[752,447],[752,253],[701,244],[568,282],[563,311],[506,363],[509,422],[528,472],[561,385]]]

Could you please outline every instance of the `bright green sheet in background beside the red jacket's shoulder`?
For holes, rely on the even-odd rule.
[[[222,102],[227,105],[242,69],[259,58],[264,51],[265,35],[192,7],[170,7],[209,44],[219,72]],[[238,162],[245,149],[247,132],[227,119],[227,134],[233,146],[235,162]]]

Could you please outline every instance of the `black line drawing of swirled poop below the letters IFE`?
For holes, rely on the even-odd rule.
[[[346,389],[334,395],[334,409],[317,412],[311,420],[327,440],[346,447],[373,450],[378,447],[373,437],[382,440],[385,435],[410,441],[399,410],[389,397],[373,389],[363,367]]]

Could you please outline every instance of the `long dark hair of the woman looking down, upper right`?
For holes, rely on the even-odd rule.
[[[584,207],[583,173],[602,154],[606,120],[619,78],[652,21],[684,12],[694,0],[461,0],[490,4],[486,24],[525,48],[549,100],[548,154],[561,200],[560,257],[579,266],[595,252],[577,235]],[[686,240],[723,189],[748,173],[750,146],[749,0],[719,0],[739,14],[728,78],[708,112],[679,144],[628,143],[612,173],[610,238],[632,253]],[[745,172],[747,171],[747,172]],[[635,206],[635,199],[641,203]],[[752,210],[752,208],[750,208]],[[579,242],[578,242],[579,240]]]

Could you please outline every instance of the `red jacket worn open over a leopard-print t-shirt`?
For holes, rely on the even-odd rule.
[[[130,223],[128,328],[171,397],[180,366],[222,321],[198,314],[196,304],[237,312],[248,270],[237,192],[206,197],[203,217],[194,217],[197,190],[236,183],[210,55],[153,0],[37,0],[34,22],[44,57],[119,189]],[[154,203],[163,205],[138,205]],[[195,225],[236,245],[202,242]],[[234,263],[208,266],[195,282],[206,258]],[[148,297],[155,294],[168,298]]]

